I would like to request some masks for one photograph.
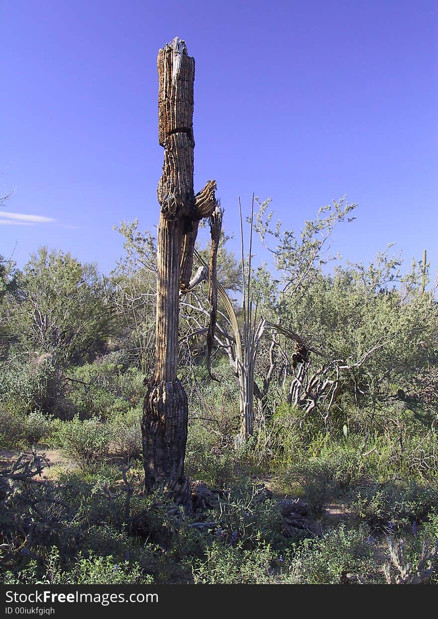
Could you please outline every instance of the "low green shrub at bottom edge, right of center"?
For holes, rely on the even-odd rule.
[[[372,560],[367,529],[347,530],[340,526],[321,538],[307,538],[296,545],[290,564],[291,582],[340,584],[347,574],[352,574],[353,581],[354,576],[364,574],[369,582],[381,579]]]

